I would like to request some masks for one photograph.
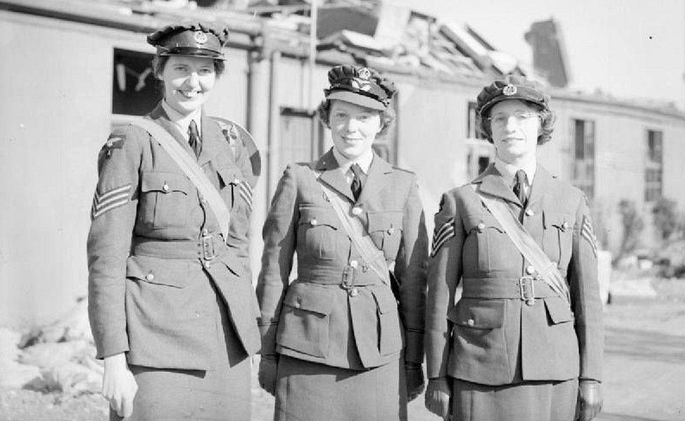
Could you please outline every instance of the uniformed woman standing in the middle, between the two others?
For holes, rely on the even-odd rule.
[[[318,111],[333,148],[286,168],[264,224],[260,385],[279,421],[406,420],[423,390],[417,179],[371,148],[392,122],[392,83],[347,65],[328,81]]]

